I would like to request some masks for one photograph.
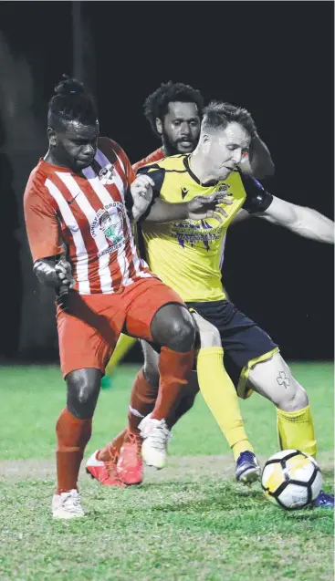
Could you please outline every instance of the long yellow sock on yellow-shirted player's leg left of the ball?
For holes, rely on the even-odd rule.
[[[254,449],[247,440],[236,389],[225,371],[223,357],[223,348],[200,349],[197,358],[198,381],[204,401],[212,411],[237,460],[241,451]]]

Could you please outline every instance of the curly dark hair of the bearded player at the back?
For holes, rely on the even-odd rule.
[[[153,93],[144,101],[144,115],[156,134],[157,130],[155,120],[157,118],[164,118],[169,103],[173,101],[195,103],[199,115],[204,107],[203,96],[197,88],[193,88],[191,85],[184,85],[183,83],[173,83],[172,80],[169,80],[167,83],[162,83],[161,87],[156,88],[156,90],[153,91]]]

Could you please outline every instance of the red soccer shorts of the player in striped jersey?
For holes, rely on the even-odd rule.
[[[152,341],[152,318],[167,303],[183,300],[157,278],[141,278],[113,295],[67,296],[67,311],[57,308],[60,367],[64,377],[82,368],[105,372],[123,331]]]

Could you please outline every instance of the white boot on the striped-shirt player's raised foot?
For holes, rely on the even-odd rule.
[[[165,420],[152,420],[151,415],[143,418],[139,424],[143,438],[141,455],[147,466],[161,469],[166,463],[170,430]]]

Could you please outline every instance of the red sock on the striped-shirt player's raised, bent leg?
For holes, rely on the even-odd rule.
[[[162,347],[159,362],[160,388],[152,418],[162,420],[167,418],[179,399],[183,386],[188,383],[189,372],[194,363],[194,351],[178,353],[167,347]]]

